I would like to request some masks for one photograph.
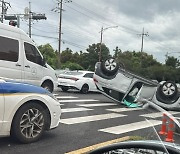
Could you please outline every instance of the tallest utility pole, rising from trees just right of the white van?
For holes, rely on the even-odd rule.
[[[70,3],[72,2],[71,0],[57,0],[58,2],[58,7],[53,8],[51,11],[58,12],[59,13],[59,41],[58,41],[58,61],[59,61],[59,66],[61,63],[61,35],[62,35],[62,11],[63,11],[63,1],[64,3]]]

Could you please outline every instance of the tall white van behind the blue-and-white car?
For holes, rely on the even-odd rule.
[[[0,77],[41,86],[50,92],[57,77],[32,39],[21,29],[0,23]]]

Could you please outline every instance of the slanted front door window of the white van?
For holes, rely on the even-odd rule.
[[[35,46],[25,42],[24,48],[27,60],[42,65],[42,57]]]

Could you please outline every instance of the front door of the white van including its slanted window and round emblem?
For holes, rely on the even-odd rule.
[[[24,42],[24,82],[40,86],[43,77],[43,58],[36,47]]]

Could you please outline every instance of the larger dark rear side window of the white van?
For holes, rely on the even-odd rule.
[[[0,36],[0,60],[17,62],[19,57],[19,41]]]

